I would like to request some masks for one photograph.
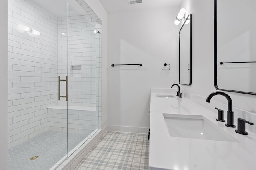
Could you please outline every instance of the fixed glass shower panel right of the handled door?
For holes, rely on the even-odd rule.
[[[68,156],[99,129],[96,109],[96,29],[68,7]]]

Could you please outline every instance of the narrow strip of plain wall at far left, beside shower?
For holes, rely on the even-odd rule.
[[[0,108],[1,108],[1,119],[0,119],[0,167],[3,170],[7,169],[7,66],[8,66],[8,30],[7,30],[7,0],[0,1]]]

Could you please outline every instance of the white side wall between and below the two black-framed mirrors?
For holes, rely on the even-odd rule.
[[[213,0],[182,0],[180,8],[186,8],[192,18],[192,85],[186,90],[207,97],[214,88],[214,2]],[[227,20],[228,21],[228,20]],[[245,82],[246,83],[246,82]],[[232,92],[233,106],[256,113],[256,96]],[[223,96],[212,100],[227,103]],[[236,114],[236,113],[234,113]]]

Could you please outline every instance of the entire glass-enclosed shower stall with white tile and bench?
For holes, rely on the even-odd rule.
[[[101,21],[72,4],[8,0],[9,170],[50,169],[100,129]]]

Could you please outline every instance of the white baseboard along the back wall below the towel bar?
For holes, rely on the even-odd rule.
[[[127,133],[141,133],[148,134],[148,127],[130,127],[130,126],[116,126],[116,125],[107,125],[107,131],[116,131],[116,132],[127,132]]]

